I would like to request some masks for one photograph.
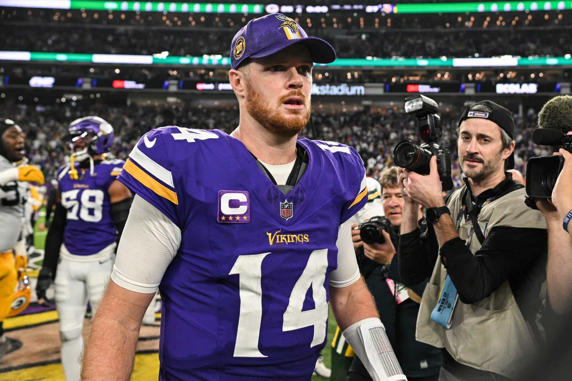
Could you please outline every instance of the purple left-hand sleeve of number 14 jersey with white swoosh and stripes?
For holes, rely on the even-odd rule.
[[[117,179],[178,226],[179,198],[161,131],[154,129],[143,135]]]

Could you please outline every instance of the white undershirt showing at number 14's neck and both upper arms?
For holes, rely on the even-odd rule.
[[[283,165],[261,163],[277,185],[285,185],[295,162]],[[142,231],[148,239],[141,239]],[[113,282],[134,292],[156,292],[180,244],[180,228],[152,204],[135,195],[117,248],[111,275]],[[347,287],[360,279],[351,238],[351,219],[339,226],[336,246],[337,268],[329,276],[329,285]]]

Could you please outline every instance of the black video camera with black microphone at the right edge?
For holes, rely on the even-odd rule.
[[[572,153],[572,135],[557,129],[536,129],[533,142],[537,145],[562,146]],[[526,195],[530,198],[551,198],[564,158],[560,155],[530,158],[526,163]]]

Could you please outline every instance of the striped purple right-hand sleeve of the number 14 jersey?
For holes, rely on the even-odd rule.
[[[347,161],[345,171],[347,175],[348,189],[345,192],[345,204],[341,210],[340,225],[356,214],[367,203],[366,168],[362,158],[352,147],[348,147],[349,157],[343,157]]]

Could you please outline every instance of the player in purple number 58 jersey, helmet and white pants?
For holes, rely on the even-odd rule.
[[[92,310],[98,306],[132,202],[131,192],[116,180],[125,162],[105,160],[113,144],[113,127],[102,118],[85,117],[70,123],[69,134],[72,155],[70,163],[57,171],[57,203],[36,288],[42,303],[55,278],[62,365],[68,381],[80,379],[86,303],[89,300]]]

